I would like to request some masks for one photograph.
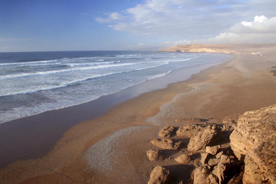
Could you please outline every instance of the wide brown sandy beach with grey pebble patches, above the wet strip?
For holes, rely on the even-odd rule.
[[[152,168],[157,165],[178,176],[174,183],[191,183],[193,165],[168,159],[179,156],[179,151],[189,153],[189,139],[172,137],[183,141],[184,146],[179,151],[164,151],[166,159],[156,162],[150,162],[145,154],[156,148],[150,141],[165,126],[183,125],[175,122],[176,119],[213,118],[211,122],[222,124],[226,117],[235,118],[246,111],[276,104],[276,76],[270,72],[276,66],[275,49],[246,48],[246,54],[234,55],[233,59],[193,74],[186,81],[135,98],[129,95],[129,100],[115,106],[106,99],[110,108],[104,114],[101,104],[95,102],[99,111],[94,114],[100,116],[83,121],[94,116],[87,115],[89,108],[75,112],[80,113],[76,119],[58,127],[65,132],[62,136],[53,137],[50,142],[43,138],[36,141],[35,144],[45,144],[45,150],[35,150],[35,145],[30,150],[37,152],[30,154],[37,155],[36,158],[27,155],[23,160],[3,162],[0,183],[147,183]],[[44,121],[51,118],[45,116]],[[18,124],[9,125],[7,130],[13,126]],[[45,134],[51,131],[55,130],[49,126]],[[223,146],[229,147],[229,142]]]

